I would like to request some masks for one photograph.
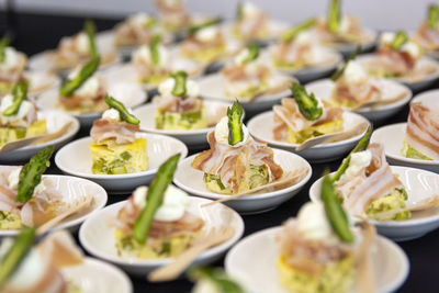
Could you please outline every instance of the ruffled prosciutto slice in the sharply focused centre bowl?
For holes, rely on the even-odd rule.
[[[282,177],[282,168],[274,162],[273,150],[266,143],[248,137],[244,145],[230,147],[216,142],[214,132],[209,133],[207,143],[211,147],[192,161],[192,168],[209,174],[219,176],[221,181],[234,193],[238,192],[246,170],[250,165],[267,165],[272,180]]]

